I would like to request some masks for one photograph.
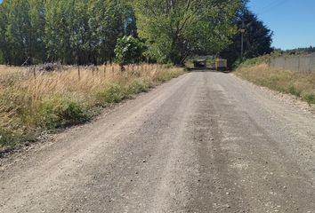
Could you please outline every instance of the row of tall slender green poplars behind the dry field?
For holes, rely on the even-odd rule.
[[[6,0],[0,4],[0,59],[21,65],[61,60],[101,64],[115,58],[118,36],[136,36],[124,0]],[[1,62],[1,61],[0,61]]]

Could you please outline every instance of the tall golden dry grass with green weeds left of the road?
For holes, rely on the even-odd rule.
[[[0,154],[44,131],[87,122],[101,108],[149,91],[184,73],[181,67],[65,67],[37,72],[0,66]]]

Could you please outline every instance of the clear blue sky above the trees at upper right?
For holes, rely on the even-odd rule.
[[[315,46],[315,0],[251,0],[248,6],[274,32],[274,47]]]

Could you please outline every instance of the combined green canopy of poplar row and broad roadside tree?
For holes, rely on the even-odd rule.
[[[101,64],[117,39],[139,37],[146,55],[182,64],[190,54],[222,51],[237,33],[244,0],[6,0],[0,4],[0,62],[60,60]]]

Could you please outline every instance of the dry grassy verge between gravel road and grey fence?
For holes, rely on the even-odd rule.
[[[295,95],[310,106],[315,105],[315,74],[269,67],[268,63],[245,63],[235,72],[239,77],[255,84]]]

